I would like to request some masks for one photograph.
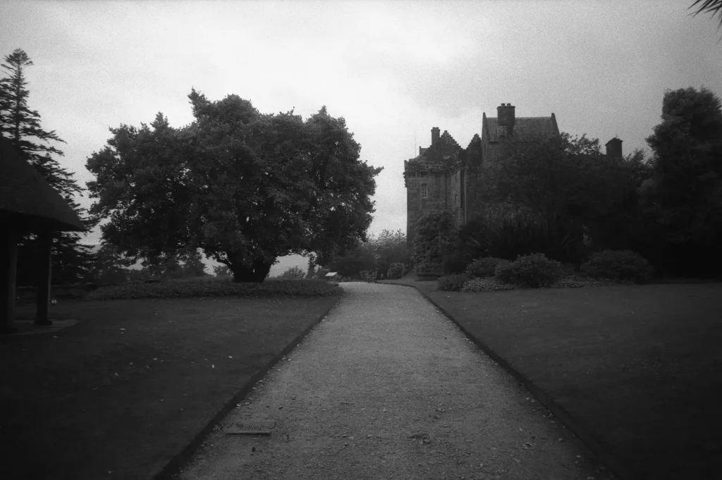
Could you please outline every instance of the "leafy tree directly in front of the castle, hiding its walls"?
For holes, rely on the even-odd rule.
[[[591,176],[586,175],[591,162],[586,159],[601,157],[599,141],[565,133],[512,137],[500,149],[498,160],[483,165],[480,175],[480,197],[487,207],[484,222],[504,230],[501,237],[529,236],[534,230],[537,240],[532,244],[539,243],[541,229],[547,255],[578,260],[583,249],[583,214],[595,198],[588,185]]]

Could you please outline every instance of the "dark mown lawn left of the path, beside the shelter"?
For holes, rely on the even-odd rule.
[[[77,325],[0,337],[2,476],[151,479],[338,300],[59,302]]]

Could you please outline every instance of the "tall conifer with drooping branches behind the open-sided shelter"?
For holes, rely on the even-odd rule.
[[[27,53],[17,48],[4,57],[0,65],[5,77],[0,78],[0,135],[6,137],[19,149],[30,165],[41,173],[48,183],[61,194],[83,220],[85,227],[92,228],[97,221],[87,217],[86,211],[74,200],[82,193],[73,178],[73,173],[61,166],[56,157],[63,152],[52,142],[65,143],[55,131],[46,131],[41,125],[40,113],[28,104],[25,71],[32,66]],[[30,283],[35,280],[32,271],[35,266],[35,243],[33,235],[25,235],[19,243],[18,281]],[[90,248],[80,243],[75,232],[53,234],[53,283],[76,282],[87,279],[93,256]]]

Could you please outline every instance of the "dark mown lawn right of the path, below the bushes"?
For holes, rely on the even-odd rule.
[[[722,284],[439,292],[413,284],[638,479],[722,478]]]

